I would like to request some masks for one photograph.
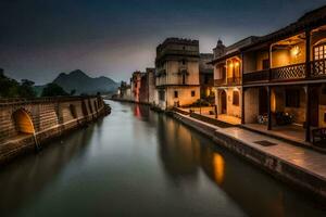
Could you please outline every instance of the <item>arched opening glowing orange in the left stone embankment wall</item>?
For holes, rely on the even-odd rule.
[[[14,119],[16,130],[20,133],[28,133],[28,135],[35,133],[33,120],[29,114],[23,108],[17,110],[16,112],[13,113],[12,117]]]

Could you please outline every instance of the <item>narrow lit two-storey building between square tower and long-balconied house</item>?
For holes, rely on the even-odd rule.
[[[214,51],[214,60],[210,62],[214,66],[215,104],[217,118],[229,123],[241,123],[242,106],[242,59],[240,49],[253,43],[258,37],[251,36],[229,47],[217,41]]]

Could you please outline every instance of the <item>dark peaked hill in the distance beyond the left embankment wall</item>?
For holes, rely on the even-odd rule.
[[[76,94],[87,93],[95,94],[97,92],[108,93],[116,91],[118,84],[111,78],[101,76],[97,78],[89,77],[83,71],[76,69],[68,74],[61,73],[54,80],[66,92],[76,90]],[[41,91],[42,87],[36,87],[37,92]]]

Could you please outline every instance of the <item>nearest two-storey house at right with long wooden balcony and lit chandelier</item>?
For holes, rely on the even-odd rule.
[[[312,129],[326,127],[326,7],[241,52],[242,123],[310,142]]]

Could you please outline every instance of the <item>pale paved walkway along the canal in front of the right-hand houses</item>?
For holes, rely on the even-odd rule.
[[[284,162],[287,162],[294,167],[298,167],[298,169],[304,170],[308,174],[319,177],[326,181],[326,154],[306,148],[296,146],[283,140],[274,139],[268,136],[256,133],[239,127],[221,128],[215,125],[192,118],[189,115],[183,115],[179,113],[177,114],[185,118],[191,119],[192,122],[200,123],[209,128],[214,128],[220,133],[241,141],[253,149],[260,150],[267,155],[272,155]],[[275,143],[276,145],[264,146],[255,143],[256,141],[268,141]]]

